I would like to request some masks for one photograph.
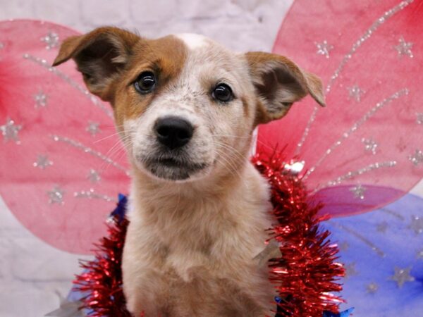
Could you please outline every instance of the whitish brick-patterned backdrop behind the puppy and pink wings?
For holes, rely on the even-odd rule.
[[[0,20],[36,18],[88,31],[99,25],[147,37],[195,32],[237,51],[270,51],[293,0],[0,0]],[[295,56],[294,56],[295,57]],[[0,184],[1,185],[1,184]],[[422,183],[413,192],[423,196]],[[39,317],[66,296],[78,259],[25,230],[0,198],[0,317]]]

